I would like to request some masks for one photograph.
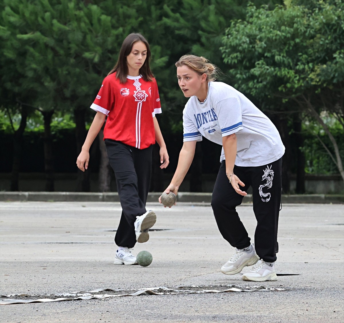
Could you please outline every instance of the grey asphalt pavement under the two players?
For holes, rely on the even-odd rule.
[[[0,303],[85,299],[2,304],[0,321],[344,321],[343,204],[283,203],[278,281],[262,283],[219,271],[234,248],[221,237],[208,202],[179,201],[170,209],[148,202],[147,208],[157,223],[133,253],[148,250],[153,262],[125,266],[113,264],[118,202],[8,201],[2,195],[0,295],[6,297]],[[254,242],[252,205],[238,212]]]

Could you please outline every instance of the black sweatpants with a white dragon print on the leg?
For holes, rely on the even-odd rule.
[[[257,219],[255,248],[260,259],[276,261],[278,252],[277,228],[282,192],[282,158],[258,167],[234,166],[234,174],[252,186],[253,211]],[[238,249],[250,245],[248,233],[240,221],[236,207],[243,201],[226,176],[226,162],[221,163],[212,196],[212,208],[222,236]]]

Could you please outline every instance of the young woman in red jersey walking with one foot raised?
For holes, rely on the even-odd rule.
[[[97,111],[76,165],[85,171],[89,148],[104,124],[109,162],[116,175],[122,215],[115,236],[118,248],[115,264],[137,264],[131,248],[149,239],[155,221],[146,210],[151,176],[152,147],[160,146],[160,168],[169,164],[169,155],[155,114],[161,113],[157,82],[149,67],[147,40],[132,33],[123,41],[114,68],[105,77],[91,108]]]

